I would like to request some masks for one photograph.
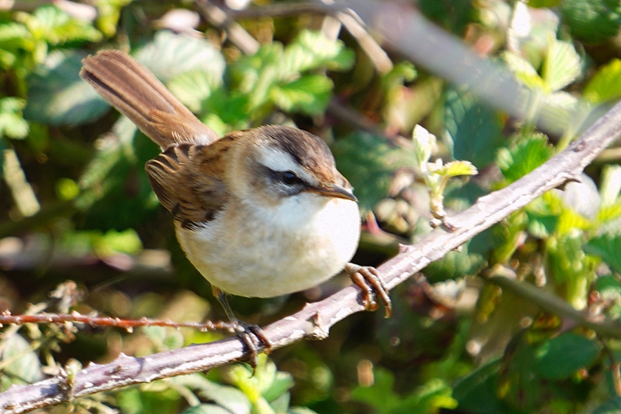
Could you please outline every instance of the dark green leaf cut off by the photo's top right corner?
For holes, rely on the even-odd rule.
[[[571,33],[589,43],[602,43],[621,27],[621,5],[617,0],[563,0],[560,13]]]

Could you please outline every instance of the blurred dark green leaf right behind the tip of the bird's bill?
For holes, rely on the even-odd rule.
[[[416,165],[413,151],[388,145],[386,139],[367,132],[355,132],[332,147],[340,172],[351,181],[362,210],[373,210],[388,196],[393,174]]]

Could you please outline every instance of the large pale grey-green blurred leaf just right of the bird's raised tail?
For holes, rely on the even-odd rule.
[[[135,57],[164,82],[190,71],[206,72],[215,81],[225,68],[224,57],[209,41],[168,30],[157,32]]]

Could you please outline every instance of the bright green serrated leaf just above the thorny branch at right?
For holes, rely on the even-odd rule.
[[[524,177],[553,155],[553,148],[544,135],[533,135],[514,148],[502,148],[497,152],[496,163],[504,178],[512,183]]]

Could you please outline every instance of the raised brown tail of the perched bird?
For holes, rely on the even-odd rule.
[[[162,149],[209,145],[213,130],[175,98],[147,68],[121,50],[101,50],[82,61],[80,76]]]

